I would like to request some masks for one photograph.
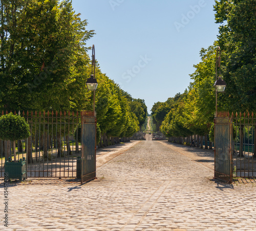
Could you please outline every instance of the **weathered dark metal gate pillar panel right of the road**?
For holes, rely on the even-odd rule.
[[[217,117],[214,120],[214,177],[232,182],[232,122],[230,118]]]

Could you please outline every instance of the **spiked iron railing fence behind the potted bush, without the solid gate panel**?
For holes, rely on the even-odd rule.
[[[31,136],[17,141],[11,156],[5,150],[13,145],[1,141],[0,177],[4,177],[6,159],[14,155],[16,159],[26,158],[27,177],[76,177],[81,155],[81,112],[23,111],[20,116],[29,123]]]

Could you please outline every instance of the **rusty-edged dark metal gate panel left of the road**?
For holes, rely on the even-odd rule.
[[[82,112],[81,183],[96,178],[96,117]]]

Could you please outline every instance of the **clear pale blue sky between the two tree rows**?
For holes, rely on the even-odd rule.
[[[183,93],[201,48],[217,40],[214,0],[73,0],[95,30],[101,72],[133,98],[154,103]],[[91,56],[91,51],[90,51]]]

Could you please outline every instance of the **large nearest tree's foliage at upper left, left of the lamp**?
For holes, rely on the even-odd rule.
[[[59,109],[78,55],[86,54],[87,21],[70,0],[1,0],[1,107]],[[62,90],[60,94],[59,89]],[[56,96],[56,90],[58,96]],[[60,99],[58,99],[60,97]]]

